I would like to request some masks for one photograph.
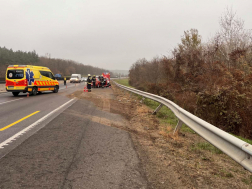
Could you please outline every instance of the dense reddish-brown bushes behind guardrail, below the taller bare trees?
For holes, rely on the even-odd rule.
[[[170,72],[177,69],[176,61],[171,61],[173,64],[167,66],[166,58],[160,58],[162,71],[155,77],[149,72],[152,61],[135,63],[129,74],[130,85],[172,100],[227,132],[252,138],[251,73],[229,70],[225,64],[215,62],[202,65],[197,73],[180,68],[175,77]]]

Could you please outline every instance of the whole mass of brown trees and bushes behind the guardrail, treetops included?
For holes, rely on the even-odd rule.
[[[129,82],[252,139],[252,33],[231,10],[221,17],[220,28],[205,43],[197,29],[185,31],[169,56],[136,61]]]

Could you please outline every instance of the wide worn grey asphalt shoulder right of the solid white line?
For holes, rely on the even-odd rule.
[[[97,102],[78,99],[0,158],[0,188],[147,188],[130,134],[110,126],[124,118],[108,111],[109,99]]]

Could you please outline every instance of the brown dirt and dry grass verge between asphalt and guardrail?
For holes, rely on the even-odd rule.
[[[77,91],[72,96],[124,117],[123,123],[110,122],[109,126],[131,134],[149,188],[252,188],[250,172],[225,154],[193,148],[204,142],[197,134],[173,136],[171,128],[160,124],[152,110],[117,87]]]

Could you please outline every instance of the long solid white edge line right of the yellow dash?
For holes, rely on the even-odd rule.
[[[8,138],[7,140],[5,140],[4,142],[0,143],[0,149],[4,148],[4,146],[7,146],[9,143],[11,143],[12,141],[16,140],[16,138],[20,137],[21,135],[23,135],[24,133],[26,133],[27,131],[31,130],[33,127],[35,127],[36,125],[40,124],[42,121],[44,121],[47,117],[49,117],[50,115],[52,115],[53,113],[55,113],[56,111],[58,111],[59,109],[63,108],[65,105],[69,104],[70,102],[72,102],[73,100],[75,100],[75,98],[69,100],[68,102],[66,102],[65,104],[61,105],[60,107],[56,108],[55,110],[51,111],[49,114],[45,115],[44,117],[40,118],[38,121],[36,121],[35,123],[31,124],[30,126],[26,127],[25,129],[23,129],[22,131],[19,131],[17,134],[13,135],[12,137]]]

